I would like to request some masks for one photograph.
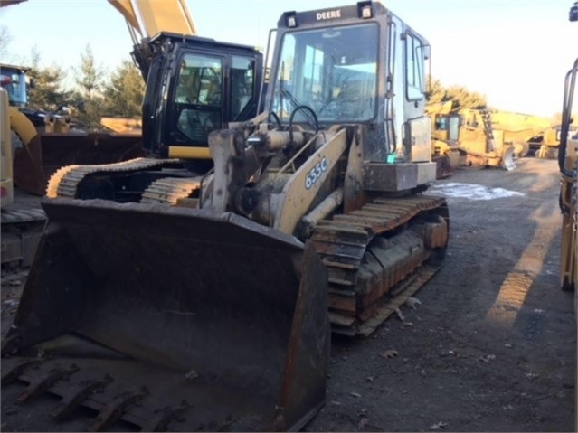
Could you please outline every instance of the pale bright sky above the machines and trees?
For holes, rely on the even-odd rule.
[[[151,0],[164,1],[164,0]],[[267,47],[285,11],[355,4],[347,0],[185,0],[199,36]],[[383,0],[431,43],[431,75],[444,86],[484,94],[492,108],[551,117],[562,110],[564,76],[578,56],[573,0]],[[73,73],[90,43],[114,70],[132,50],[127,25],[106,0],[28,0],[0,9],[8,55],[25,65],[35,47],[45,65]]]

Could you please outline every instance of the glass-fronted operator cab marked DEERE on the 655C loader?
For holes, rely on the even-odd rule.
[[[431,161],[429,43],[370,1],[280,18],[265,109],[282,125],[369,127],[374,162]]]

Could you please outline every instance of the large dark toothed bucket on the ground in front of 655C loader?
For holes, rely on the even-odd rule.
[[[131,390],[146,392],[122,419],[143,429],[159,408],[183,409],[185,421],[168,425],[179,431],[297,430],[315,415],[330,327],[327,270],[312,245],[232,213],[71,199],[43,207],[50,222],[3,352],[34,354],[44,342],[45,371],[72,360],[78,372],[57,394],[89,372],[111,378],[83,401],[100,410],[92,429]],[[59,352],[63,335],[122,359]]]

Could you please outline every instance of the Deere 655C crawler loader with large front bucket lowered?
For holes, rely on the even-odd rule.
[[[52,176],[3,344],[19,400],[60,396],[63,423],[94,409],[93,431],[296,430],[324,403],[331,330],[371,334],[440,268],[428,42],[363,1],[282,14],[268,52],[265,110],[209,133],[209,169],[145,139],[147,158]],[[147,85],[143,133],[198,133],[194,90]]]

